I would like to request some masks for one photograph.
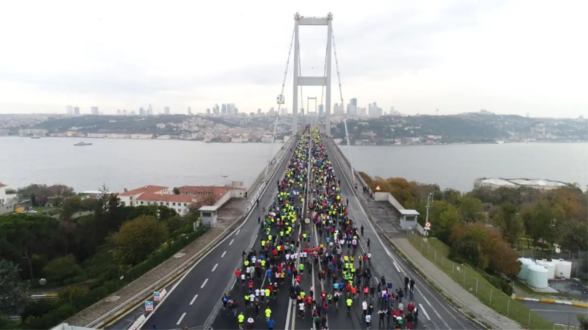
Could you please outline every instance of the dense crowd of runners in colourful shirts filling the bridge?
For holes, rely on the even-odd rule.
[[[259,241],[243,251],[235,271],[241,289],[222,297],[226,314],[239,329],[265,322],[273,330],[272,308],[288,308],[277,301],[286,290],[296,317],[312,319],[316,330],[328,330],[328,317],[342,312],[367,329],[376,322],[377,328],[416,329],[419,309],[405,299],[415,282],[406,277],[405,287],[395,288],[384,275],[373,276],[369,239],[348,213],[319,130],[305,127],[294,148],[273,203],[258,219]]]

